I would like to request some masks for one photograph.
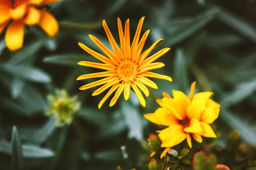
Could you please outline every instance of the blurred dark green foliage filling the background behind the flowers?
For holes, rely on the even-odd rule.
[[[113,170],[120,165],[124,170],[145,170],[150,152],[142,145],[160,127],[143,114],[158,108],[155,99],[162,97],[162,91],[188,94],[195,80],[196,91],[213,91],[221,104],[215,125],[222,136],[217,143],[224,146],[228,132],[236,129],[239,140],[256,145],[255,8],[255,0],[61,0],[50,8],[61,22],[54,40],[32,27],[26,31],[23,48],[11,53],[1,34],[0,169],[15,165],[15,170]],[[153,52],[172,48],[159,59],[166,66],[157,73],[171,76],[173,82],[154,79],[159,88],[151,89],[146,108],[132,92],[128,101],[120,97],[111,108],[107,101],[99,110],[105,94],[79,91],[94,79],[76,78],[96,69],[77,62],[96,59],[77,42],[101,53],[88,34],[110,47],[103,19],[118,40],[117,17],[123,23],[130,18],[133,36],[142,16],[143,31],[151,30],[143,50],[159,38],[165,40]],[[69,126],[58,127],[54,118],[45,116],[47,95],[57,88],[78,95],[81,102]]]

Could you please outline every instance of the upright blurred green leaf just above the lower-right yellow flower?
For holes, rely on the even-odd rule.
[[[188,88],[187,62],[184,51],[177,48],[174,62],[174,81],[179,90],[186,91]]]

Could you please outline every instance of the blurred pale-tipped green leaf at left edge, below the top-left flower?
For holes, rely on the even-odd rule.
[[[1,68],[7,73],[12,74],[15,77],[19,77],[20,79],[41,83],[51,82],[51,77],[49,76],[49,74],[38,68],[33,68],[29,65],[17,66],[11,64],[4,64],[1,65]]]

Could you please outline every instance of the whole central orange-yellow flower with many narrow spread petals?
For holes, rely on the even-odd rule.
[[[154,62],[154,61],[159,57],[161,57],[163,54],[165,54],[167,51],[169,51],[170,48],[163,48],[162,50],[158,51],[156,54],[152,55],[151,57],[148,57],[148,54],[160,42],[162,42],[163,39],[159,39],[156,42],[154,42],[154,44],[151,45],[150,48],[148,48],[145,52],[143,52],[143,54],[141,54],[142,48],[149,34],[149,30],[145,31],[141,40],[139,41],[144,18],[145,17],[142,17],[140,19],[140,22],[137,27],[137,31],[134,36],[134,40],[131,44],[130,44],[129,19],[126,20],[125,22],[125,31],[124,31],[125,34],[123,34],[121,20],[119,18],[117,19],[121,50],[116,44],[116,41],[114,40],[105,20],[103,20],[102,25],[108,36],[108,40],[111,44],[113,52],[109,50],[105,45],[103,45],[102,42],[100,42],[96,37],[94,37],[93,35],[89,35],[90,39],[108,56],[108,58],[91,50],[81,42],[78,43],[79,46],[84,49],[84,51],[86,51],[87,53],[91,54],[93,57],[99,59],[101,62],[104,63],[102,64],[102,63],[81,61],[78,63],[79,65],[107,70],[105,72],[81,75],[80,77],[77,78],[77,80],[81,80],[81,79],[89,79],[94,77],[106,77],[96,82],[83,85],[79,88],[80,90],[86,90],[88,88],[93,88],[95,86],[105,84],[93,92],[92,95],[96,96],[98,94],[101,94],[103,91],[107,90],[112,86],[111,89],[106,94],[106,96],[102,99],[102,101],[99,102],[99,108],[101,108],[103,103],[108,99],[108,97],[116,89],[117,91],[110,102],[110,105],[109,105],[110,107],[116,103],[117,99],[119,98],[123,90],[124,90],[125,100],[128,100],[130,96],[131,87],[134,89],[135,94],[138,96],[141,105],[145,107],[146,105],[145,99],[141,94],[140,90],[143,91],[145,96],[149,96],[148,88],[145,85],[151,88],[157,89],[157,85],[146,77],[154,77],[158,79],[166,79],[166,80],[172,81],[171,77],[164,76],[161,74],[156,74],[149,71],[149,70],[161,68],[164,66],[162,62]],[[148,58],[146,59],[146,57]]]

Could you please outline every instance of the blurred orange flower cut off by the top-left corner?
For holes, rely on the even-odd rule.
[[[11,51],[19,50],[23,45],[24,27],[38,24],[49,35],[58,33],[58,23],[52,14],[37,7],[58,0],[0,0],[0,33],[9,24],[6,34],[6,46]]]

